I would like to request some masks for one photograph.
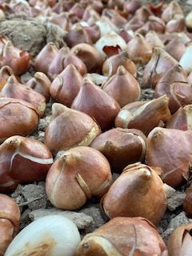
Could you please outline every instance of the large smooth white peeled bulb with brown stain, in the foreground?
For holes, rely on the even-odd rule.
[[[81,241],[78,228],[68,218],[50,215],[30,223],[10,243],[5,256],[74,256]]]

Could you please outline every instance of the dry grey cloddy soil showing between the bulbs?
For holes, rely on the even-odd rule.
[[[146,2],[149,1],[143,1],[143,3]],[[179,3],[185,14],[192,10],[192,1],[179,1]],[[22,17],[11,14],[9,19],[0,22],[0,34],[8,36],[15,46],[18,46],[21,50],[28,50],[32,56],[37,55],[47,42],[54,41],[58,47],[65,45],[65,42],[62,39],[63,31],[58,26],[46,26],[43,22],[35,22],[33,19],[26,18],[26,16]],[[34,70],[32,68],[30,72],[22,75],[22,82],[29,80],[33,74]],[[138,66],[138,82],[140,85],[142,85],[142,74],[143,66]],[[142,90],[141,100],[149,100],[153,98],[154,90]],[[51,120],[52,103],[53,100],[46,104],[46,114],[40,119],[38,129],[34,134],[31,134],[30,138],[35,138],[43,142],[46,126],[48,126]],[[59,154],[62,154],[62,152]],[[118,174],[114,174],[114,179],[117,177]],[[186,186],[182,186],[176,191],[170,191],[166,214],[158,225],[158,230],[165,241],[177,226],[192,222],[192,219],[187,218],[186,214],[182,211],[182,202],[186,195],[185,190]],[[52,206],[46,198],[45,182],[19,185],[17,190],[11,194],[11,197],[18,203],[21,210],[21,230],[36,218],[40,218],[53,212],[56,214],[57,210],[54,209],[54,206]],[[69,216],[69,218],[75,223],[78,223],[77,226],[81,231],[82,237],[106,222],[102,217],[98,198],[93,198],[90,202],[87,202],[82,209],[75,212],[78,214],[74,215],[73,211],[58,210],[57,214],[68,214],[67,216]]]

